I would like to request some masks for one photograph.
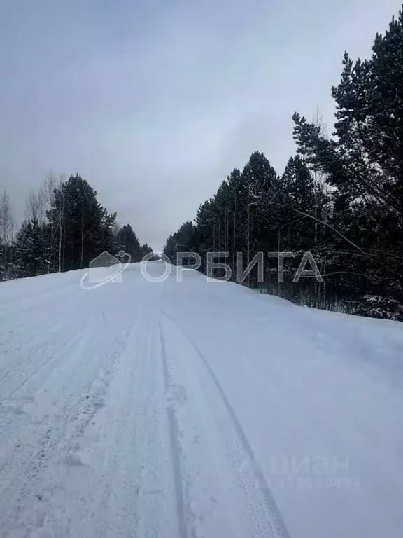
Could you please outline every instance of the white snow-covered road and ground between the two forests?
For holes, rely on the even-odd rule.
[[[401,538],[403,324],[175,270],[0,284],[0,536]]]

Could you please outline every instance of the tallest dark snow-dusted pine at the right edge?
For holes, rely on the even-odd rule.
[[[403,12],[377,34],[370,60],[344,70],[332,96],[336,139],[295,113],[299,152],[337,189],[329,224],[339,237],[333,262],[357,291],[403,301]],[[345,220],[350,222],[346,222]],[[364,279],[364,282],[362,282]],[[387,305],[388,301],[379,301]]]

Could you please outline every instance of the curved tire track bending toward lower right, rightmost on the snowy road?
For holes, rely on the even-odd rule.
[[[228,448],[228,454],[232,460],[234,467],[237,471],[236,480],[239,482],[239,486],[243,490],[244,494],[247,497],[248,509],[253,515],[257,522],[257,532],[259,536],[267,538],[267,536],[276,537],[276,538],[290,538],[287,527],[283,521],[278,506],[274,500],[274,497],[271,493],[267,480],[260,469],[259,464],[255,460],[253,450],[250,446],[250,443],[246,437],[245,432],[239,422],[234,409],[229,403],[227,396],[222,389],[222,386],[216,377],[213,368],[208,363],[207,359],[204,357],[204,354],[200,352],[195,343],[188,337],[188,335],[183,331],[181,326],[172,319],[166,312],[161,311],[162,315],[166,317],[171,324],[174,324],[179,333],[185,338],[186,342],[192,347],[192,350],[195,352],[195,356],[198,357],[200,364],[203,366],[204,371],[208,375],[211,385],[213,385],[215,392],[218,394],[220,400],[223,403],[225,411],[229,417],[230,423],[233,426],[232,435],[229,434],[225,426],[222,423],[218,422],[218,427],[222,434],[222,439]],[[225,424],[225,422],[224,422]],[[234,439],[235,446],[229,446],[229,439]],[[236,442],[237,439],[237,442]],[[231,443],[232,444],[232,443]],[[242,456],[236,458],[233,455],[234,448],[241,451]],[[264,520],[259,516],[259,510],[257,506],[262,505],[264,511]],[[267,534],[269,529],[270,534]]]

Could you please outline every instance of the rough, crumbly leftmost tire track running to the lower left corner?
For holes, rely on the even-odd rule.
[[[35,532],[38,528],[38,518],[32,519],[32,505],[37,504],[37,512],[45,513],[44,518],[50,514],[46,513],[46,502],[50,501],[52,492],[58,490],[61,485],[57,481],[57,467],[59,464],[80,465],[80,461],[75,457],[75,447],[78,440],[85,432],[89,423],[94,419],[94,415],[103,406],[104,396],[106,395],[113,372],[117,367],[119,358],[124,352],[127,340],[131,336],[133,320],[130,319],[126,326],[120,331],[118,340],[115,340],[107,355],[104,357],[107,364],[99,365],[99,372],[96,378],[91,380],[89,394],[80,396],[77,400],[71,397],[67,399],[60,410],[62,415],[57,417],[48,415],[45,422],[41,422],[40,431],[36,432],[36,447],[21,448],[22,453],[18,457],[16,453],[13,458],[3,460],[0,465],[0,477],[3,481],[3,487],[0,487],[1,496],[8,498],[8,507],[1,506],[0,527],[3,528],[22,528],[28,534]],[[94,348],[94,358],[97,350]],[[70,377],[73,378],[76,372],[83,365],[80,361],[73,364]],[[85,375],[85,371],[83,372]],[[64,387],[60,387],[64,388]],[[79,384],[76,389],[83,389]],[[53,396],[55,402],[58,402],[56,390]],[[76,394],[78,396],[78,394]],[[27,425],[27,428],[32,424]],[[17,434],[19,433],[16,430]],[[11,431],[11,442],[8,444],[16,445],[18,437],[13,439],[14,431]],[[27,450],[28,448],[28,450]],[[17,467],[13,460],[17,458]],[[21,481],[17,481],[15,469],[19,470]],[[13,476],[12,481],[8,481],[8,476]],[[17,487],[16,487],[17,486]],[[31,499],[29,501],[29,499]],[[28,502],[29,501],[29,502]],[[41,524],[39,524],[41,526]],[[1,535],[1,534],[0,534]],[[13,534],[11,534],[13,535]]]

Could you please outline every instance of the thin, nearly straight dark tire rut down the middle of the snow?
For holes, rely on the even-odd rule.
[[[162,368],[164,371],[165,390],[169,392],[172,380],[169,375],[167,361],[167,347],[165,345],[164,333],[162,326],[158,324],[160,331]],[[175,408],[172,405],[167,406],[167,420],[169,426],[169,436],[171,441],[172,467],[174,471],[174,484],[176,493],[176,508],[178,512],[178,531],[180,538],[187,538],[188,532],[185,520],[185,503],[183,500],[183,480],[181,474],[181,443],[179,441],[178,422],[176,420]]]

